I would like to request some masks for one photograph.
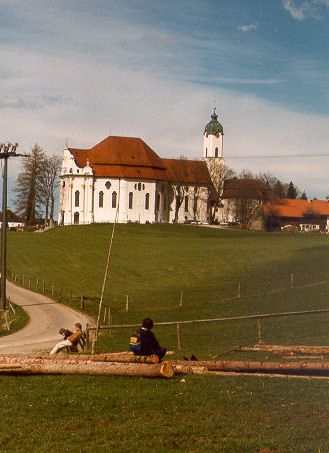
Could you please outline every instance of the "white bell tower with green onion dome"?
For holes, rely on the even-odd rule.
[[[211,120],[206,125],[203,133],[203,158],[205,160],[223,159],[223,136],[223,126],[218,121],[215,107]]]

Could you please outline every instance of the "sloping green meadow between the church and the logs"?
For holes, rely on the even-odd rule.
[[[11,233],[9,267],[36,282],[51,282],[95,316],[112,225]],[[294,287],[291,288],[291,274]],[[237,298],[240,285],[240,298]],[[183,291],[183,307],[179,307]],[[129,311],[125,311],[126,295]],[[183,225],[118,225],[105,293],[114,323],[156,322],[329,307],[329,238]],[[102,315],[103,317],[103,315]],[[267,342],[326,344],[328,315],[264,322]],[[316,328],[315,328],[316,326]],[[159,335],[176,347],[176,329]],[[101,349],[126,349],[129,331],[103,334]],[[257,322],[184,326],[184,354],[218,354],[253,344]]]

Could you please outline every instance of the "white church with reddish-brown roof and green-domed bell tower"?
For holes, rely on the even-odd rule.
[[[161,158],[132,137],[109,136],[90,149],[66,148],[59,224],[207,222],[209,168],[224,165],[223,135],[214,109],[200,160]]]

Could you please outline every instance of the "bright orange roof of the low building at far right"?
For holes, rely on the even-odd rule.
[[[302,218],[308,213],[329,216],[329,203],[324,200],[280,198],[264,206],[265,214],[270,211],[278,217]]]

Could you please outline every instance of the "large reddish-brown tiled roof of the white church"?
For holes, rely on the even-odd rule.
[[[161,159],[140,138],[110,136],[90,149],[69,151],[80,168],[89,160],[96,177],[211,183],[204,161]]]

